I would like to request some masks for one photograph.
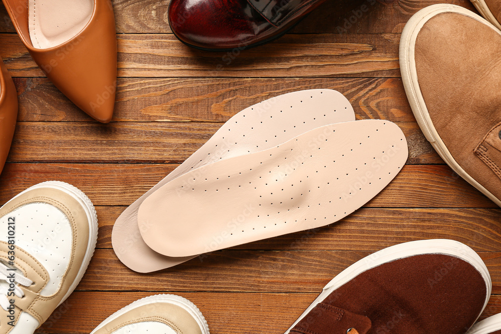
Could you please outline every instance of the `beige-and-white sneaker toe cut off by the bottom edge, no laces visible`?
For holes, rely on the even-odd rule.
[[[157,294],[134,301],[101,322],[91,334],[209,334],[202,313],[191,301]]]

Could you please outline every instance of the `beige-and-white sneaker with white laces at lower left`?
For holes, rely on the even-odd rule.
[[[49,181],[0,208],[0,334],[32,334],[75,290],[97,241],[80,190]]]

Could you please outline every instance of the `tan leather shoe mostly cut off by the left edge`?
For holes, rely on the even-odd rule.
[[[0,59],[0,173],[11,148],[17,118],[18,94],[16,87],[4,62]]]

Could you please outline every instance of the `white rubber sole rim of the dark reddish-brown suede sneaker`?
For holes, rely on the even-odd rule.
[[[487,305],[487,301],[490,297],[490,292],[492,290],[492,282],[490,280],[489,271],[487,270],[487,267],[485,266],[485,263],[483,263],[480,256],[478,256],[478,254],[470,247],[458,241],[447,239],[418,240],[405,242],[382,249],[378,252],[375,252],[374,254],[364,257],[363,259],[355,262],[354,264],[343,270],[339,275],[337,275],[329,283],[327,283],[322,293],[320,293],[320,295],[313,301],[313,303],[308,306],[308,308],[292,324],[292,326],[289,327],[285,334],[289,334],[290,330],[299,321],[301,321],[301,319],[303,319],[317,304],[319,304],[327,296],[329,296],[329,294],[331,294],[334,290],[349,282],[362,272],[377,267],[383,263],[422,254],[447,254],[458,257],[475,267],[475,269],[478,270],[478,272],[485,280],[486,295],[482,310],[483,308],[485,308],[485,305]],[[478,316],[480,316],[480,313],[478,313]]]

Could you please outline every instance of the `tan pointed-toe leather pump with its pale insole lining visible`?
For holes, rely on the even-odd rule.
[[[3,0],[24,45],[47,77],[79,108],[108,123],[117,78],[110,0]]]

